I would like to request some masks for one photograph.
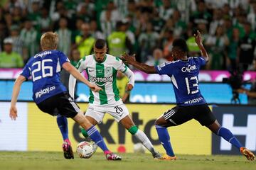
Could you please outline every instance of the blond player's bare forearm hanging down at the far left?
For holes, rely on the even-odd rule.
[[[13,93],[11,95],[11,108],[9,113],[11,120],[16,120],[16,118],[18,117],[16,103],[17,103],[19,91],[21,90],[21,84],[24,81],[26,81],[26,77],[23,77],[20,75],[14,82]]]

